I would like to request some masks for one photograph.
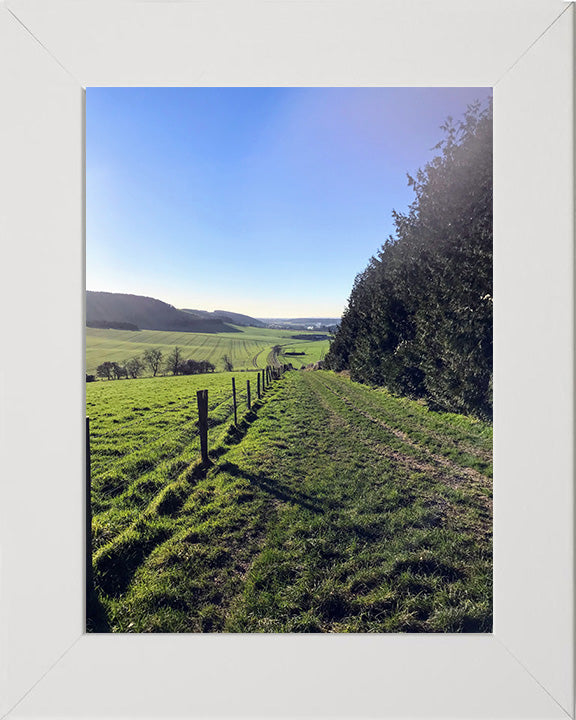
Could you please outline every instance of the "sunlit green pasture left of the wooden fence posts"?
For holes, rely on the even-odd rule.
[[[197,390],[208,390],[210,445],[233,417],[233,373],[88,383],[94,548],[137,520],[200,449]],[[255,395],[256,375],[237,378],[237,402],[246,406],[246,380]]]

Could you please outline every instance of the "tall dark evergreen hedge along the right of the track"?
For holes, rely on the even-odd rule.
[[[326,366],[492,417],[492,103],[448,118],[415,200],[354,282]]]

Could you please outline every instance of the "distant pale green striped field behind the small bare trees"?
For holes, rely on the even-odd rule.
[[[294,367],[316,362],[328,351],[328,340],[293,340],[293,335],[306,333],[294,330],[240,327],[234,333],[164,332],[160,330],[100,330],[86,328],[86,372],[94,374],[105,361],[122,363],[149,348],[160,348],[168,356],[174,346],[183,351],[184,359],[208,360],[222,370],[228,355],[235,370],[264,368],[275,345],[304,351],[304,356],[286,358]],[[309,333],[311,336],[314,333]],[[296,365],[298,362],[298,365]]]

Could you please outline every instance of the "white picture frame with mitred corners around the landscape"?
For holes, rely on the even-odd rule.
[[[574,22],[562,0],[0,2],[1,717],[575,716]],[[494,88],[493,634],[84,634],[96,85]]]

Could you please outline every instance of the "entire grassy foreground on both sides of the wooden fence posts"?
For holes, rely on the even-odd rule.
[[[230,382],[87,385],[91,630],[491,630],[490,425],[302,371],[234,427]]]

